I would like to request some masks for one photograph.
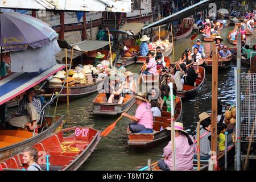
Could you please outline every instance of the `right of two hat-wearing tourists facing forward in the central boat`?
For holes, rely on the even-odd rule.
[[[123,85],[124,94],[135,94],[137,92],[137,83],[133,77],[134,73],[125,72],[125,85]]]

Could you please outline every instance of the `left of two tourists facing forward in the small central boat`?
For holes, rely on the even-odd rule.
[[[125,98],[125,94],[122,92],[123,86],[125,85],[125,82],[121,80],[121,77],[119,75],[116,75],[114,80],[115,84],[113,85],[113,78],[110,76],[110,96],[108,99],[108,103],[113,103],[114,100],[118,100],[118,104],[123,103],[123,99]]]

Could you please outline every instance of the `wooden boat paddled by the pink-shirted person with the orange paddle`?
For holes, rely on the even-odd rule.
[[[175,121],[179,122],[182,113],[182,103],[181,98],[176,97],[176,108],[175,108]],[[171,132],[166,128],[171,125],[171,113],[167,111],[162,111],[162,117],[154,118],[154,132],[153,133],[131,133],[127,132],[128,140],[127,143],[132,147],[154,147],[156,144],[163,142],[170,138]],[[163,127],[163,130],[160,128]]]

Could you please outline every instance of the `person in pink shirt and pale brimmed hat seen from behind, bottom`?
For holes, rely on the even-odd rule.
[[[167,130],[171,130],[167,127]],[[194,139],[183,129],[183,123],[174,122],[175,130],[175,152],[176,152],[176,169],[177,171],[193,170],[193,155],[195,151]],[[173,170],[172,142],[170,141],[164,147],[164,159],[158,160],[158,167],[164,171]]]

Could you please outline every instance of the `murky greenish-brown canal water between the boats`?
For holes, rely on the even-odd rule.
[[[232,30],[232,27],[226,27],[222,30],[221,36],[224,38],[224,43],[228,47],[232,47],[228,43],[227,35]],[[201,35],[196,39],[201,38]],[[196,40],[195,39],[195,40]],[[195,40],[191,40],[191,36],[186,39],[178,40],[174,43],[175,61],[179,60],[181,54],[186,48],[191,48],[195,44]],[[203,42],[205,53],[209,55],[212,43]],[[172,55],[171,55],[172,59]],[[172,59],[173,60],[173,59]],[[135,73],[139,72],[141,64],[133,64],[126,69]],[[234,68],[236,64],[232,63],[232,67],[218,74],[218,98],[221,99],[222,105],[225,102],[235,102],[235,84],[234,84]],[[247,72],[249,68],[242,65],[242,72]],[[203,111],[210,111],[211,109],[211,88],[212,88],[212,75],[206,72],[205,82],[203,89],[197,96],[190,100],[183,101],[182,122],[184,123],[185,130],[193,135],[196,129],[196,122],[199,120],[198,115]],[[95,116],[93,115],[92,101],[97,93],[91,94],[88,97],[81,98],[76,101],[70,102],[70,109],[67,110],[67,104],[59,103],[57,107],[57,114],[65,115],[67,123],[65,127],[71,126],[91,126],[97,130],[104,130],[117,117]],[[128,112],[134,114],[137,106],[133,106]],[[224,111],[225,107],[223,107]],[[152,162],[161,158],[163,148],[168,141],[159,144],[158,146],[150,149],[131,148],[127,146],[127,124],[129,119],[123,117],[115,126],[112,133],[107,137],[101,138],[100,143],[80,167],[80,170],[137,170],[147,165],[147,159]]]

